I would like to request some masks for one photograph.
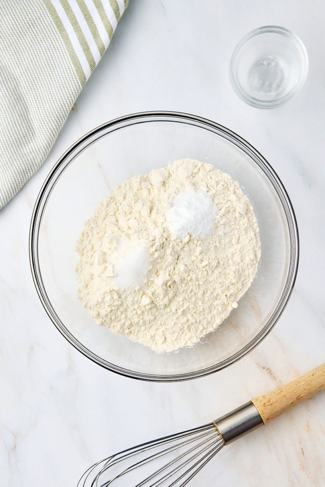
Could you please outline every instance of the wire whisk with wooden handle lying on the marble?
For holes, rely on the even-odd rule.
[[[199,428],[149,441],[92,465],[77,487],[182,487],[222,448],[325,390],[325,363]]]

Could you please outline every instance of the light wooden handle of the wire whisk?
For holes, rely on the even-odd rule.
[[[263,423],[277,418],[292,406],[325,390],[325,363],[275,391],[252,400]]]

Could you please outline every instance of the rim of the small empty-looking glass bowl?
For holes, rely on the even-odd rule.
[[[303,67],[302,76],[297,86],[289,93],[285,94],[284,96],[281,96],[280,98],[275,98],[274,100],[271,101],[263,101],[257,98],[250,97],[242,89],[240,83],[237,80],[237,75],[236,75],[237,56],[239,55],[244,44],[246,44],[246,42],[252,39],[253,37],[259,36],[260,34],[263,34],[265,32],[273,32],[279,34],[280,36],[286,37],[287,39],[292,40],[295,43],[297,50],[299,51],[301,65]],[[229,79],[234,92],[242,101],[247,103],[247,105],[250,105],[251,107],[254,108],[270,109],[282,105],[282,103],[292,98],[295,94],[297,94],[302,89],[308,76],[308,69],[309,69],[309,58],[308,58],[308,52],[306,46],[302,42],[300,37],[298,37],[297,34],[295,34],[295,32],[286,29],[285,27],[281,27],[280,25],[263,25],[262,27],[257,27],[256,29],[253,29],[250,32],[248,32],[236,45],[229,63]]]

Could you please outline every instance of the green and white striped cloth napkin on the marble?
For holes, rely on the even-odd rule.
[[[44,162],[128,0],[0,0],[0,208]]]

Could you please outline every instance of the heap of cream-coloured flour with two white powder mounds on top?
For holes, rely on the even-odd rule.
[[[158,352],[220,325],[260,256],[239,185],[190,159],[125,181],[86,223],[77,250],[79,295],[91,316]]]

